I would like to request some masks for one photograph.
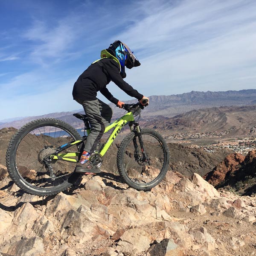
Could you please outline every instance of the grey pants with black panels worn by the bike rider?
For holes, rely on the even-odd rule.
[[[105,126],[110,125],[113,111],[109,105],[100,99],[75,100],[84,107],[84,112],[91,126],[91,132],[84,142],[84,150],[92,154],[105,131]]]

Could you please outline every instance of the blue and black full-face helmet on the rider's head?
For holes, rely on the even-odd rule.
[[[140,61],[136,58],[131,49],[121,41],[114,41],[107,50],[119,60],[122,78],[126,77],[125,67],[131,69],[140,66]]]

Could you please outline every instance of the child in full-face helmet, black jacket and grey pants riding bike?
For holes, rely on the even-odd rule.
[[[84,174],[100,172],[100,169],[91,165],[88,160],[96,150],[105,126],[110,124],[113,111],[109,105],[96,98],[98,91],[117,107],[122,108],[125,103],[113,97],[106,87],[110,81],[113,81],[129,96],[138,99],[142,105],[148,105],[148,97],[138,93],[123,80],[126,77],[125,67],[131,69],[138,66],[140,62],[129,47],[121,41],[115,41],[108,49],[101,51],[101,59],[94,61],[75,82],[73,99],[83,106],[91,126],[91,132],[84,142],[80,160],[76,165],[76,172]],[[145,102],[145,99],[148,102]]]

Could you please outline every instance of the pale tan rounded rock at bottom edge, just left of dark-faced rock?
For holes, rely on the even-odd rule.
[[[150,247],[151,239],[144,230],[142,229],[130,229],[120,237],[120,241],[117,243],[116,251],[122,252],[125,255],[131,253],[136,255],[148,250]]]

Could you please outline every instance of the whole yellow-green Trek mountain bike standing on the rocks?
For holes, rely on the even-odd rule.
[[[121,141],[117,152],[117,169],[122,179],[134,189],[148,191],[165,177],[169,166],[169,149],[163,137],[152,129],[140,128],[134,116],[143,106],[125,104],[128,111],[105,128],[113,128],[106,142],[90,156],[90,163],[100,167],[103,157],[121,129],[128,124],[131,132]],[[87,116],[74,114],[84,121]],[[71,125],[45,118],[27,123],[12,137],[6,152],[6,166],[17,186],[32,195],[54,195],[64,191],[81,177],[74,172],[83,141]]]

